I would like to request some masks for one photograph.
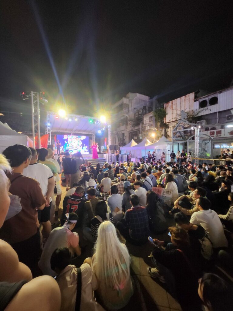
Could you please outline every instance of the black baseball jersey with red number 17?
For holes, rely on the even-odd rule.
[[[84,203],[85,199],[83,197],[78,197],[74,194],[66,196],[63,200],[61,225],[63,226],[66,222],[66,213],[75,213],[79,216],[75,228],[84,227],[87,220],[87,211]]]

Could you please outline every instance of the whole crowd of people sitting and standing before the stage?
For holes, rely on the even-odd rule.
[[[2,310],[121,309],[134,292],[126,245],[143,247],[162,233],[171,238],[150,239],[148,275],[166,283],[183,310],[231,310],[231,285],[213,273],[216,262],[232,263],[227,164],[195,165],[182,150],[170,162],[153,152],[145,161],[94,166],[80,152],[56,159],[51,149],[7,147],[0,155]],[[171,205],[155,188],[171,193]],[[93,255],[75,267],[81,241]]]

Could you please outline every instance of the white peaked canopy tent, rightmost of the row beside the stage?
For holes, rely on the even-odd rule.
[[[146,146],[146,151],[155,151],[157,160],[161,158],[161,154],[164,152],[166,155],[166,161],[170,161],[171,148],[172,142],[165,136],[162,136],[157,142]]]

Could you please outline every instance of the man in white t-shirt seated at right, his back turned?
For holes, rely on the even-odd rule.
[[[221,220],[217,213],[210,209],[211,202],[205,197],[197,199],[197,206],[200,211],[193,213],[190,223],[201,225],[209,235],[213,248],[227,247],[228,242],[224,234]]]

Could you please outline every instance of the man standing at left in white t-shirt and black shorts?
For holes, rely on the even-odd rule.
[[[36,150],[31,147],[30,150],[32,152],[32,158],[28,167],[23,170],[23,175],[36,179],[39,182],[42,193],[46,199],[44,209],[38,213],[38,219],[43,225],[43,236],[47,238],[52,229],[49,219],[52,202],[51,197],[54,193],[55,180],[51,169],[48,166],[37,162],[38,155]]]

